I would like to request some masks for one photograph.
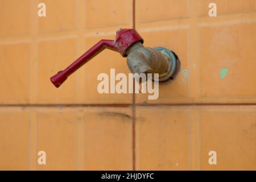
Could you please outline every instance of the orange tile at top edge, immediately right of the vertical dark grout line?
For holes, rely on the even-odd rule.
[[[185,18],[188,15],[189,4],[187,0],[139,0],[135,1],[136,20],[138,23],[153,20],[166,20]]]

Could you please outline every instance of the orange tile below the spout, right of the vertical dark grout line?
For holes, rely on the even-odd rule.
[[[190,169],[188,107],[137,107],[136,169]]]

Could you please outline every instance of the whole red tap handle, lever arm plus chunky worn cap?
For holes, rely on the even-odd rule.
[[[117,31],[115,40],[100,40],[100,42],[85,52],[81,57],[79,57],[79,59],[64,69],[64,71],[59,71],[56,75],[52,76],[50,80],[52,84],[58,88],[61,84],[63,84],[69,75],[87,63],[90,59],[103,51],[105,48],[117,51],[121,53],[123,57],[126,57],[127,48],[138,41],[143,43],[143,39],[136,30],[120,29]]]

